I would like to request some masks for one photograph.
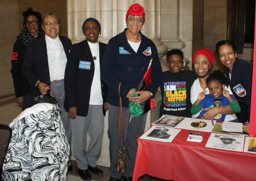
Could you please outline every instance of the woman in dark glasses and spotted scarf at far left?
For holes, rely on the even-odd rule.
[[[40,12],[28,8],[27,11],[23,11],[22,15],[24,16],[24,30],[17,36],[13,46],[11,73],[17,105],[24,111],[35,103],[34,96],[30,93],[30,84],[22,74],[25,53],[29,43],[45,35],[45,32],[41,28],[42,15]]]

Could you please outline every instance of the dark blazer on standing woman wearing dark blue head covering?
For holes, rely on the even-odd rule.
[[[99,60],[100,66],[106,49],[106,44],[99,42]],[[90,62],[90,69],[79,68],[80,61]],[[89,109],[91,86],[94,76],[94,60],[90,46],[87,40],[76,43],[72,46],[70,57],[67,62],[65,71],[65,104],[64,108],[69,112],[69,108],[77,107],[77,115],[86,117]],[[102,80],[101,95],[103,102],[106,102],[106,94],[108,87]],[[105,115],[104,104],[102,111]]]

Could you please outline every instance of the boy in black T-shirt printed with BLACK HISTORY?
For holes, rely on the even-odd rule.
[[[183,52],[172,49],[166,55],[170,71],[163,72],[158,91],[162,95],[160,117],[164,114],[191,117],[190,89],[197,79],[195,72],[183,70]]]

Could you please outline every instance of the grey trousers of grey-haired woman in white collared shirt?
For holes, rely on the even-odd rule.
[[[70,146],[70,154],[69,154],[69,161],[70,161],[72,156],[72,150],[71,150],[72,133],[71,133],[71,123],[69,120],[69,113],[63,108],[64,101],[65,101],[64,80],[51,82],[51,88],[53,89],[54,97],[58,100],[58,104],[60,106],[60,111],[61,111],[60,118],[65,128],[65,133]],[[52,96],[52,90],[50,95]]]

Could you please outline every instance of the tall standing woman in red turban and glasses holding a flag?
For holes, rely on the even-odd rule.
[[[147,113],[134,117],[130,121],[129,101],[139,105],[148,98],[154,97],[162,77],[162,68],[156,45],[141,33],[145,22],[143,7],[139,4],[132,5],[125,18],[127,28],[109,41],[101,66],[102,78],[110,88],[108,93],[110,180],[116,181],[122,178],[125,181],[132,180],[137,152],[137,139],[144,133],[146,124]],[[131,97],[142,80],[151,59],[153,59],[151,84],[145,91],[135,92],[135,94],[138,94],[137,97]],[[121,83],[120,96],[122,97],[124,147],[126,149],[127,167],[123,173],[117,171],[119,152],[119,83]]]

